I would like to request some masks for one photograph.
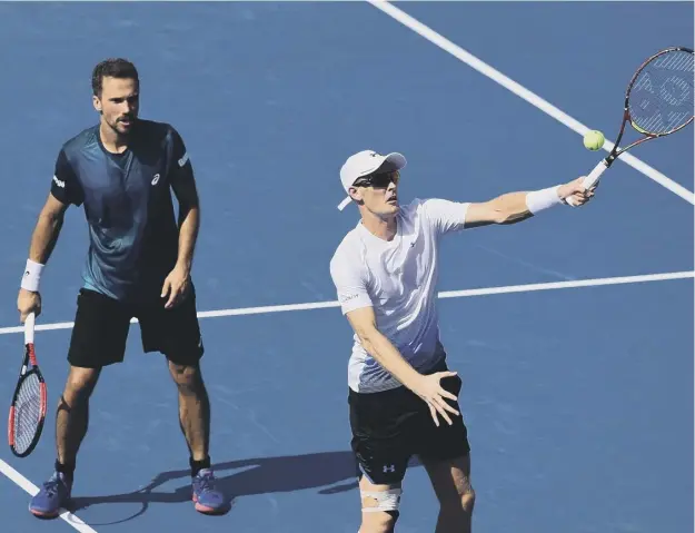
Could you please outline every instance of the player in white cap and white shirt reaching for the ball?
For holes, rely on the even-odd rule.
[[[439,500],[436,533],[470,532],[475,492],[460,415],[461,381],[439,342],[439,239],[490,224],[516,224],[554,206],[585,205],[582,178],[485,203],[415,199],[400,206],[403,155],[364,150],[340,169],[360,220],[330,260],[341,312],[355,330],[348,363],[351,446],[361,497],[359,533],[393,532],[401,482],[417,455]]]

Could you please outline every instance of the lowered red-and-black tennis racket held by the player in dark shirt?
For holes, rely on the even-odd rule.
[[[34,323],[36,315],[31,313],[24,322],[24,358],[8,422],[10,450],[18,457],[26,457],[33,452],[46,421],[47,389],[33,347]]]

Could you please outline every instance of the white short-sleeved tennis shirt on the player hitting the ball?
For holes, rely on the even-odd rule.
[[[417,371],[443,355],[436,306],[439,238],[464,228],[468,204],[415,199],[401,206],[397,234],[384,240],[361,221],[340,241],[330,260],[342,314],[374,307],[377,328]],[[354,335],[348,385],[375,393],[400,386]]]

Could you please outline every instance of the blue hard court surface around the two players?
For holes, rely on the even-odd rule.
[[[693,47],[692,2],[397,7],[609,140],[636,67],[662,48]],[[132,324],[78,457],[75,515],[90,529],[29,514],[18,483],[38,486],[52,470],[68,324],[37,333],[49,386],[39,446],[23,460],[0,447],[0,516],[13,533],[355,533],[351,332],[335,306],[267,308],[335,300],[328,261],[357,221],[354,206],[336,209],[340,165],[366,148],[401,151],[403,200],[478,201],[573,179],[605,156],[367,2],[3,2],[0,43],[7,406],[21,358],[9,328],[56,156],[97,120],[92,67],[127,57],[140,70],[142,117],[177,127],[197,172],[199,310],[227,310],[201,318],[211,457],[235,497],[224,516],[193,510],[176,389]],[[633,155],[692,191],[693,142],[689,126]],[[692,199],[618,161],[583,209],[444,243],[439,289],[490,289],[439,303],[464,381],[476,532],[693,531],[693,228]],[[86,253],[85,216],[72,208],[42,280],[39,326],[73,319]],[[669,273],[685,274],[574,286]],[[547,283],[564,285],[489,294]],[[397,531],[433,532],[438,506],[417,464],[404,491]]]

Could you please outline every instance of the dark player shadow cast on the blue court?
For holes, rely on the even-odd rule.
[[[413,466],[419,465],[414,460]],[[281,457],[259,457],[230,461],[212,465],[218,487],[234,501],[240,496],[302,491],[325,487],[319,494],[338,494],[357,488],[356,464],[351,452],[325,452]],[[232,472],[225,475],[228,471]],[[157,491],[161,485],[180,480],[183,484],[172,491]],[[336,485],[337,484],[337,485]],[[139,503],[139,512],[119,522],[127,522],[143,514],[150,503],[183,503],[191,500],[190,471],[162,472],[145,487],[125,494],[73,497],[71,512],[93,505]],[[90,522],[93,524],[93,522]]]

